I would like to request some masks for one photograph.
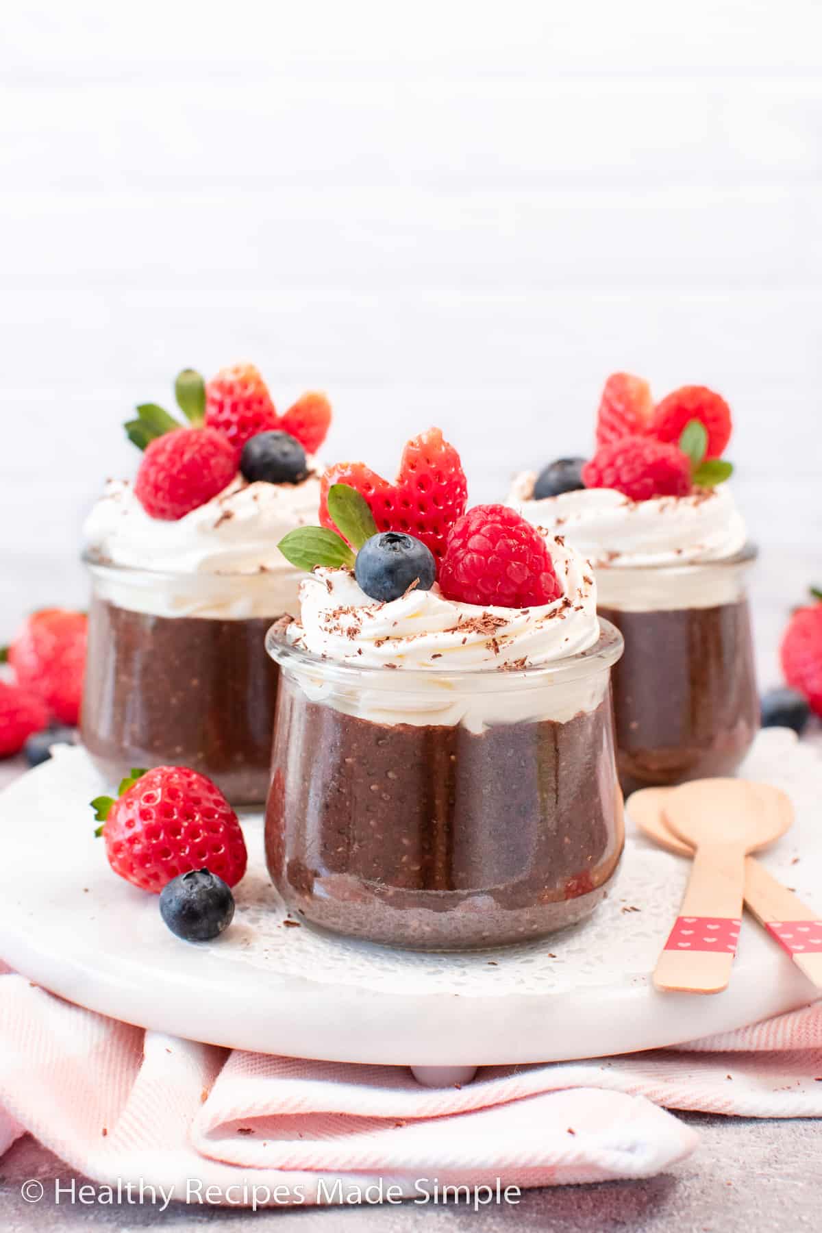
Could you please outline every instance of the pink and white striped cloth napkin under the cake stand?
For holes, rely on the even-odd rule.
[[[193,1202],[208,1186],[274,1206],[646,1178],[698,1144],[665,1108],[822,1116],[822,1002],[678,1049],[487,1067],[430,1090],[401,1067],[143,1032],[11,973],[0,990],[0,1153],[28,1131],[99,1182]]]

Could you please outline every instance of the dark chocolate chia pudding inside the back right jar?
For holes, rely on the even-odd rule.
[[[612,676],[625,793],[736,771],[759,729],[747,600],[600,613],[625,637]]]

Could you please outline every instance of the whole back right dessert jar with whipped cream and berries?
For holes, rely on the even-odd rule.
[[[755,549],[725,483],[727,404],[686,386],[605,387],[598,449],[524,475],[509,504],[562,534],[596,575],[599,613],[625,637],[614,671],[625,792],[732,773],[759,727],[747,582]]]

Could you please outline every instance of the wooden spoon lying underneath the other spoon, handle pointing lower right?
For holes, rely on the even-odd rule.
[[[694,850],[668,830],[663,817],[664,798],[669,792],[670,788],[640,788],[629,799],[629,815],[643,835],[659,847],[690,857]],[[784,793],[778,793],[775,798],[769,793],[768,801],[780,815],[790,813],[792,819],[794,806]],[[774,878],[755,856],[746,857],[744,862],[744,901],[746,907],[787,952],[800,972],[817,989],[822,989],[821,914]]]

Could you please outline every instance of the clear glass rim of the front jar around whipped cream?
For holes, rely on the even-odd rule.
[[[531,665],[526,668],[389,668],[385,665],[345,663],[330,660],[313,651],[304,651],[291,645],[285,636],[287,624],[276,621],[267,631],[265,649],[281,668],[296,672],[320,673],[323,679],[340,684],[352,684],[366,681],[368,688],[385,688],[394,692],[414,687],[430,688],[431,682],[442,687],[471,688],[477,692],[494,689],[527,688],[552,684],[556,681],[574,681],[608,671],[622,655],[625,646],[619,629],[604,616],[598,618],[599,639],[587,651],[578,651],[548,663]]]

